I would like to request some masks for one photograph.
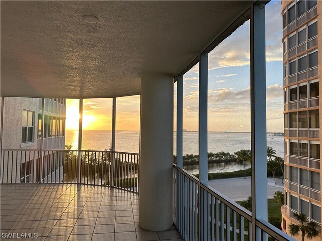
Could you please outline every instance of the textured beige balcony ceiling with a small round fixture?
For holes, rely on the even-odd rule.
[[[1,95],[96,98],[139,94],[143,72],[178,74],[250,2],[0,4]]]

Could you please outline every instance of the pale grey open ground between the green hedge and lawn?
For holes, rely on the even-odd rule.
[[[208,185],[233,201],[246,200],[251,196],[251,177],[209,180]],[[267,178],[267,198],[274,198],[276,191],[284,192],[282,179]]]

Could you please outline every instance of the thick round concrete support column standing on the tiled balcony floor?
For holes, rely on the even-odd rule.
[[[139,226],[163,231],[173,224],[173,77],[141,76]]]

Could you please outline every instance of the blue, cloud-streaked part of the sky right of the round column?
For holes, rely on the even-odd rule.
[[[210,54],[208,130],[250,131],[250,24],[240,26]],[[283,131],[281,2],[266,5],[267,131]],[[184,129],[198,130],[198,65],[184,75]]]

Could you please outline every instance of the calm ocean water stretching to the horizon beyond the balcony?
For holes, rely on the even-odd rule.
[[[104,150],[110,148],[111,131],[84,130],[82,133],[83,150]],[[116,131],[115,150],[139,153],[139,132]],[[78,131],[66,130],[66,145],[78,149]],[[267,135],[267,145],[276,155],[284,157],[284,139],[272,134]],[[241,149],[251,149],[251,134],[237,132],[208,132],[208,152],[234,153]],[[176,153],[176,133],[174,132],[174,154]],[[183,132],[183,155],[198,154],[198,132]]]

